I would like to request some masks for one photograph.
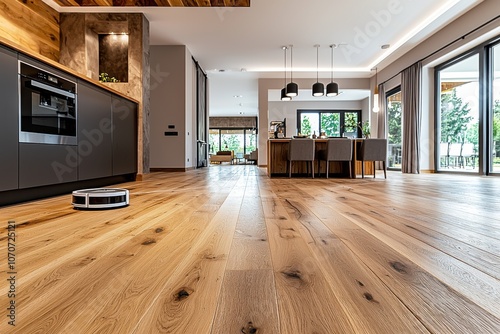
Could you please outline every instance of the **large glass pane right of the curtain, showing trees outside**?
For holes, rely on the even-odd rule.
[[[438,170],[479,172],[479,54],[439,69]]]

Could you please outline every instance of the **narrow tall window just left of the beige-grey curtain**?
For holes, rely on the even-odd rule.
[[[387,92],[387,168],[401,169],[402,109],[401,87]]]

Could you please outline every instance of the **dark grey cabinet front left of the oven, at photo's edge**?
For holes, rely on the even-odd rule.
[[[17,54],[0,46],[0,191],[18,188]]]

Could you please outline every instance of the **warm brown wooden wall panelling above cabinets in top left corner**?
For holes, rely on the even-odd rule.
[[[30,53],[59,61],[59,13],[41,0],[0,0],[0,34]]]

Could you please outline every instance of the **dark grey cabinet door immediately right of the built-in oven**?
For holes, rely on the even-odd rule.
[[[77,106],[78,179],[113,175],[111,93],[79,81]]]

